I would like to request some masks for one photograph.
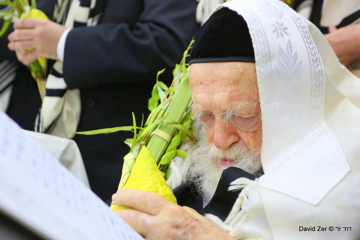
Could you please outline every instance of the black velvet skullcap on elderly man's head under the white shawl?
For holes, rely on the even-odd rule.
[[[189,63],[252,62],[254,48],[247,23],[237,12],[221,8],[194,37]]]

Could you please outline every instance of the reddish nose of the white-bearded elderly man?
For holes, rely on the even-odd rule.
[[[213,130],[213,142],[216,148],[220,150],[227,150],[229,147],[240,140],[237,128],[231,123],[222,123],[215,121]]]

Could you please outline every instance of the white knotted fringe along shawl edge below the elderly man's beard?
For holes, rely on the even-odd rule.
[[[225,221],[222,221],[219,217],[213,214],[206,214],[205,217],[227,231],[236,239],[242,239],[244,237],[243,231],[239,231],[239,229],[242,228],[241,223],[246,221],[245,214],[247,213],[249,205],[249,196],[251,196],[253,191],[256,189],[257,179],[253,181],[248,178],[241,177],[231,182],[230,185],[229,191],[236,191],[240,189],[242,189],[242,191],[236,199],[229,216],[225,219]]]

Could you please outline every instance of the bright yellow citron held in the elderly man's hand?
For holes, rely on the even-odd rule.
[[[122,188],[150,191],[163,196],[172,203],[177,203],[172,190],[145,146],[141,148],[130,177]],[[129,207],[112,205],[111,209],[115,211],[127,208]]]

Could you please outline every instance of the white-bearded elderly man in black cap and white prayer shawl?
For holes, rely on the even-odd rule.
[[[359,239],[360,81],[313,24],[278,0],[222,4],[189,81],[183,207],[123,189],[121,218],[146,239]]]

